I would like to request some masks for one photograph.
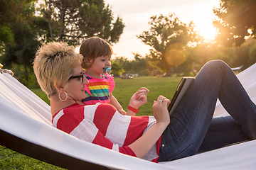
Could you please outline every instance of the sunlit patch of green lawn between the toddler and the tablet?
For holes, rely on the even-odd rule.
[[[139,108],[138,115],[153,115],[152,105],[159,95],[171,99],[181,77],[135,77],[134,79],[114,79],[116,86],[112,94],[127,110],[129,99],[141,87],[149,89],[148,102]]]

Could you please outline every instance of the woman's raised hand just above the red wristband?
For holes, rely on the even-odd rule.
[[[139,108],[140,106],[146,104],[147,94],[149,94],[149,89],[146,89],[146,87],[142,87],[134,95],[132,95],[132,98],[130,99],[129,102],[129,106],[132,106],[133,108]]]

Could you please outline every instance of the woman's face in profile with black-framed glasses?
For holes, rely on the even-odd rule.
[[[79,65],[73,69],[73,75],[64,86],[64,91],[68,94],[68,99],[82,101],[86,97],[85,84],[89,81],[85,78],[82,67]],[[81,77],[77,77],[81,76]],[[74,78],[75,77],[75,78]]]

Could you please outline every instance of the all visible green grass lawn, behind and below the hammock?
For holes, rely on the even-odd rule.
[[[178,86],[181,77],[135,77],[134,79],[114,78],[116,86],[112,94],[127,111],[129,98],[141,87],[149,89],[148,103],[139,108],[138,115],[152,115],[153,101],[159,95],[171,99]],[[43,101],[50,103],[46,94],[41,89],[31,89]],[[0,169],[60,169],[58,166],[46,164],[23,154],[14,152],[0,146]]]

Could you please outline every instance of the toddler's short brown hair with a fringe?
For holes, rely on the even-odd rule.
[[[91,64],[85,64],[86,61],[92,60],[92,63],[97,57],[112,55],[113,50],[109,43],[102,38],[92,37],[87,38],[80,46],[80,55],[84,57],[82,68],[88,69]]]

